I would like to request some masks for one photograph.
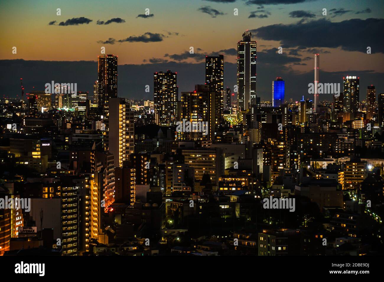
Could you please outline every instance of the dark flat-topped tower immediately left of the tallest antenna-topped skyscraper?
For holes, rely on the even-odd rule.
[[[223,117],[224,110],[224,56],[205,57],[205,84],[209,85],[209,91],[216,92],[215,109],[217,121]]]

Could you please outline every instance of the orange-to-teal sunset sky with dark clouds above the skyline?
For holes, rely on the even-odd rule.
[[[121,67],[122,72],[119,69],[119,91],[120,86],[125,91],[121,96],[139,98],[138,92],[145,84],[153,85],[153,73],[168,68],[178,75],[183,72],[180,91],[187,91],[194,84],[204,83],[204,73],[194,70],[204,72],[200,66],[205,55],[217,53],[225,56],[228,63],[225,86],[232,88],[236,83],[237,41],[245,30],[251,30],[252,39],[258,44],[258,96],[269,98],[271,81],[276,76],[287,81],[286,99],[290,95],[301,96],[298,92],[306,91],[304,86],[313,80],[306,82],[313,70],[313,54],[320,53],[323,78],[360,76],[362,99],[368,83],[376,84],[377,92],[384,92],[383,3],[382,0],[2,1],[0,64],[8,71],[0,79],[0,86],[7,92],[3,94],[15,97],[19,94],[16,85],[20,77],[23,76],[26,90],[31,91],[32,85],[41,88],[51,80],[49,74],[55,74],[55,79],[78,79],[84,90],[91,91],[97,69],[89,68],[93,73],[86,76],[80,72],[71,77],[58,67],[64,63],[39,62],[34,68],[33,62],[25,61],[96,61],[104,46],[107,54],[118,55],[119,66],[127,65],[127,69]],[[56,15],[57,8],[61,9],[61,16]],[[152,16],[139,16],[146,8]],[[233,15],[234,8],[238,9],[238,16]],[[323,8],[327,9],[327,16],[322,15]],[[115,20],[105,24],[111,19]],[[13,46],[17,47],[17,54],[12,54]],[[194,55],[189,54],[190,46],[195,49]],[[283,54],[277,53],[275,48],[279,46],[283,46]],[[367,46],[371,46],[372,54],[366,53]],[[14,59],[25,61],[9,61]],[[75,68],[84,67],[88,71],[80,63]],[[40,72],[39,77],[39,68],[50,69]],[[140,75],[130,77],[132,72]],[[297,75],[297,83],[293,83],[293,74]],[[151,98],[148,93],[145,95]]]

